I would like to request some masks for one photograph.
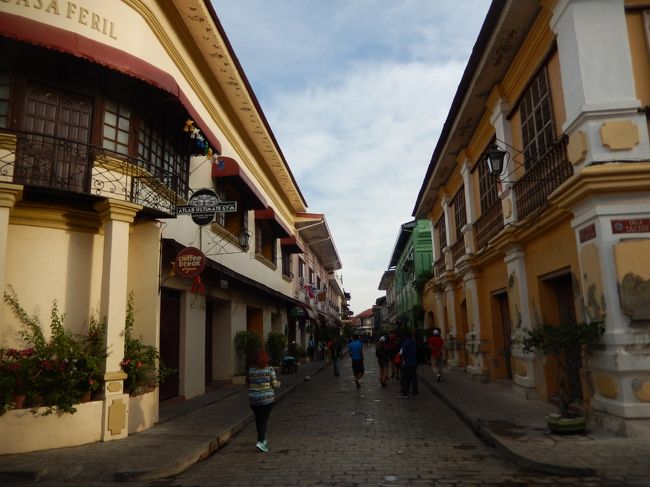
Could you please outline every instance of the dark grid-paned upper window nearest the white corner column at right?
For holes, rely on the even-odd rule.
[[[553,106],[545,67],[537,73],[524,93],[520,113],[524,167],[528,170],[546,154],[555,140]]]

